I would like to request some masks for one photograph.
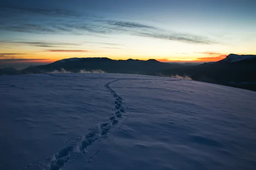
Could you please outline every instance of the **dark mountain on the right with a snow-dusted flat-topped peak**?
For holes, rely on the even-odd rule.
[[[218,62],[171,68],[160,74],[187,75],[197,81],[256,91],[256,55],[230,54]]]

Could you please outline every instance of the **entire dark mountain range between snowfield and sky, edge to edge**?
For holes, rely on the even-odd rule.
[[[200,65],[164,63],[155,59],[113,60],[106,57],[61,59],[47,65],[22,70],[0,69],[0,75],[41,74],[51,72],[106,72],[154,76],[189,76],[193,80],[256,91],[256,55],[230,54],[218,62]]]

